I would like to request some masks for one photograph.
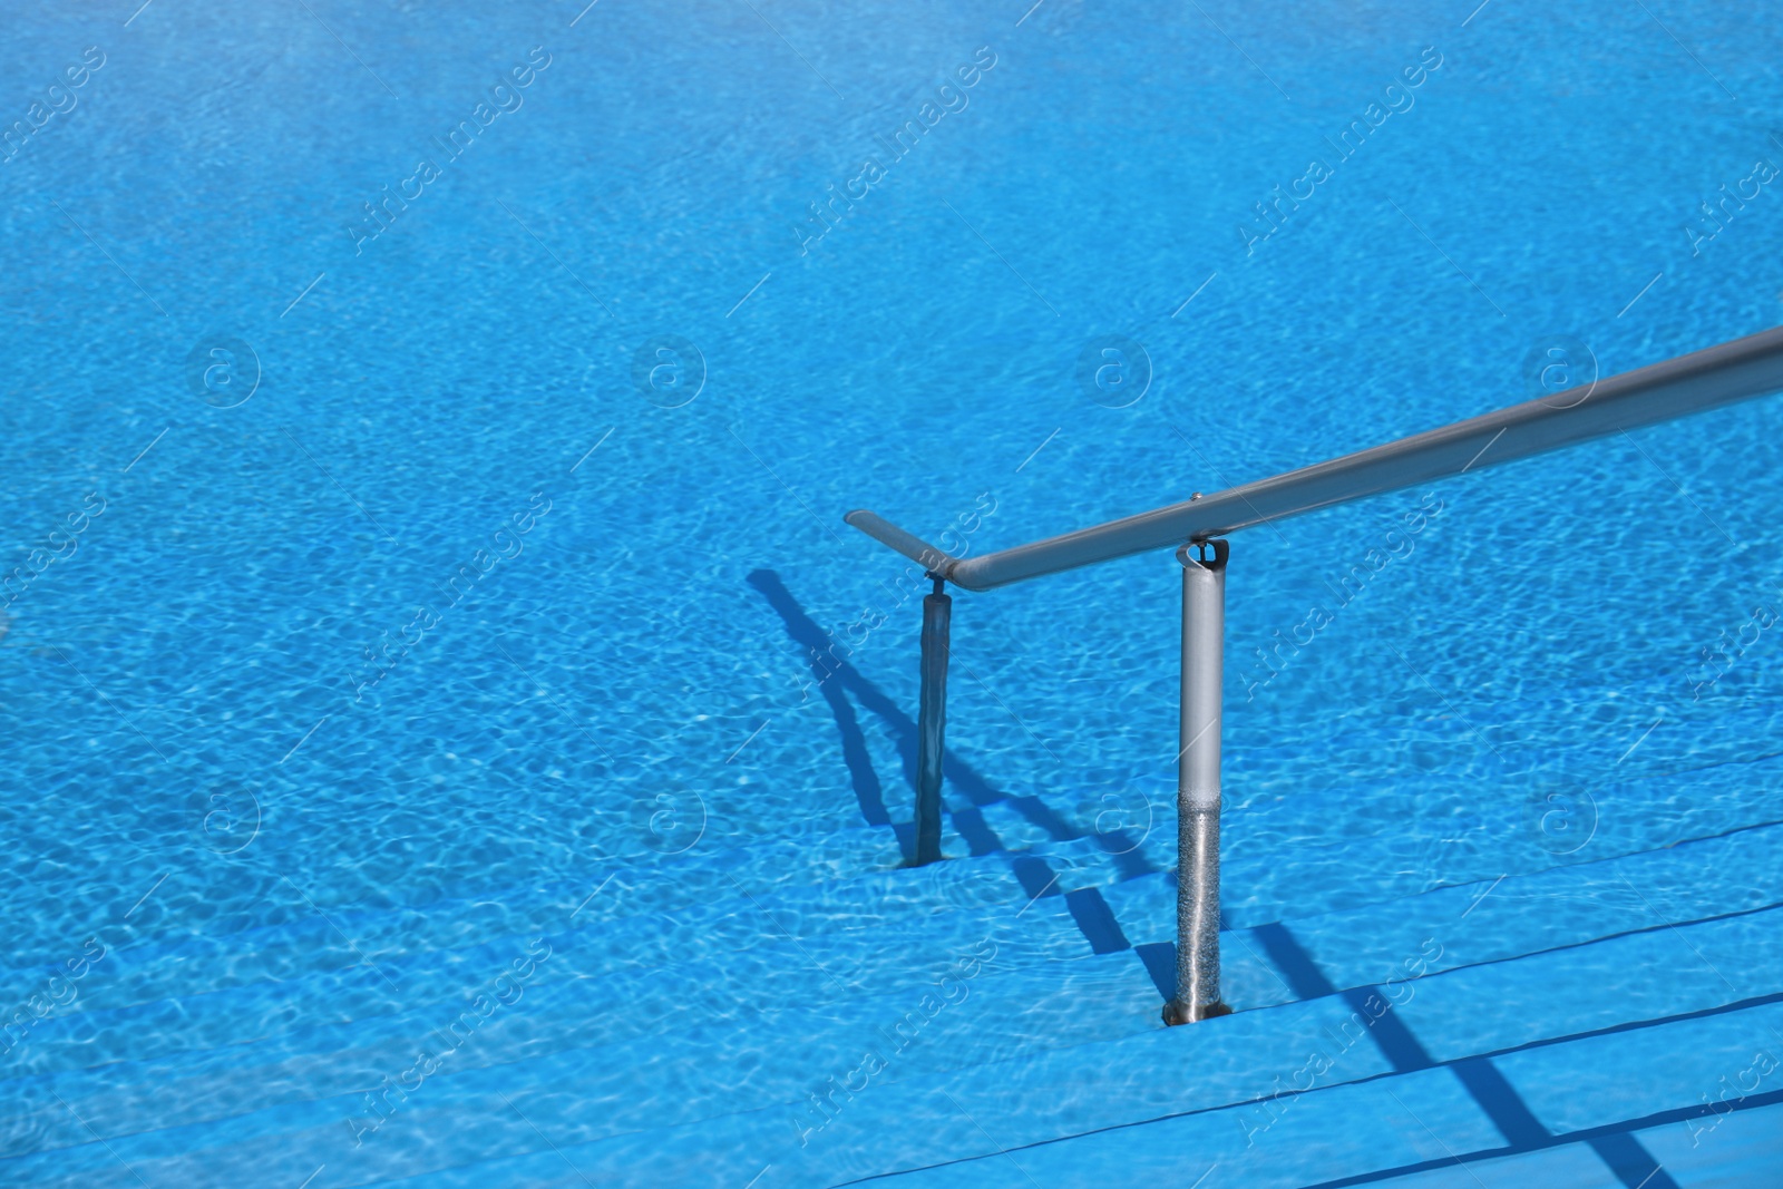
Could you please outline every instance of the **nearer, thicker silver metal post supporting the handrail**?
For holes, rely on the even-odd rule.
[[[1182,563],[1177,996],[1164,1005],[1164,1023],[1191,1023],[1232,1011],[1220,1002],[1220,681],[1227,554],[1223,540],[1177,549]]]

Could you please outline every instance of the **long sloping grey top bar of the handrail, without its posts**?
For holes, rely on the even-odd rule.
[[[1779,389],[1783,326],[1202,499],[979,558],[947,554],[867,510],[850,512],[843,519],[956,586],[991,590],[1150,549],[1207,540],[1475,467],[1516,462]]]

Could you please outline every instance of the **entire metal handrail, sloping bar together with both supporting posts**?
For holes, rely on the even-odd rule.
[[[845,519],[934,579],[922,601],[922,706],[915,861],[941,857],[941,754],[952,601],[945,583],[991,590],[1027,578],[1177,547],[1182,565],[1182,704],[1177,752],[1177,991],[1166,1023],[1227,1014],[1220,998],[1220,720],[1225,663],[1221,533],[1378,496],[1672,421],[1783,389],[1783,326],[1681,355],[1496,414],[1234,487],[1205,499],[1109,521],[981,558],[954,558],[872,512]]]

